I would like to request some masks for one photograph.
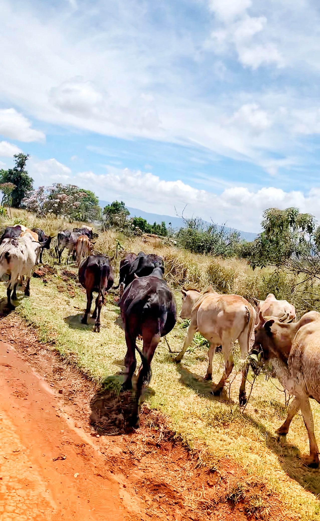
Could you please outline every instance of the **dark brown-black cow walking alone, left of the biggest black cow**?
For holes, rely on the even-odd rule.
[[[113,269],[109,257],[104,255],[89,255],[79,266],[79,281],[87,291],[87,308],[82,324],[87,324],[93,299],[93,291],[98,294],[92,318],[96,318],[94,331],[100,332],[100,313],[104,303],[104,294],[114,283]],[[98,311],[98,313],[97,313]]]

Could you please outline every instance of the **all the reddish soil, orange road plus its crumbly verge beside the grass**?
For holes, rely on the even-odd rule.
[[[97,436],[94,384],[15,314],[0,338],[0,521],[297,519],[236,462],[202,465],[146,406],[140,429]]]

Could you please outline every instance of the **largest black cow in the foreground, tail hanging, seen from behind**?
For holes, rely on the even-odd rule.
[[[162,269],[157,267],[149,276],[134,279],[125,289],[119,306],[125,324],[127,354],[124,390],[131,389],[132,376],[136,370],[136,350],[141,356],[138,374],[137,395],[133,404],[130,423],[136,426],[139,420],[139,398],[143,385],[151,380],[151,361],[161,337],[168,334],[176,324],[176,302],[174,295],[162,278]],[[142,336],[142,352],[136,345]]]

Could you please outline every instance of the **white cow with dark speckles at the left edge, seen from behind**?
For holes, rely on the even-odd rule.
[[[10,296],[13,288],[12,298],[17,299],[18,279],[22,275],[27,277],[27,285],[24,295],[30,296],[31,270],[36,264],[40,252],[40,244],[33,241],[32,235],[26,233],[23,237],[7,239],[0,245],[0,278],[6,273],[10,275],[7,287],[8,307],[13,309]]]

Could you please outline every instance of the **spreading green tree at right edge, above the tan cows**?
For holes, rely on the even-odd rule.
[[[300,214],[298,208],[268,208],[263,217],[263,231],[248,248],[249,264],[253,268],[280,267],[290,258],[313,254],[316,239],[313,215]]]

